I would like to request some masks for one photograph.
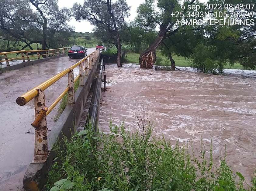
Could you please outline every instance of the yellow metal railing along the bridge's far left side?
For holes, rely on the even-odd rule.
[[[37,57],[37,59],[40,59],[40,56],[45,56],[46,58],[54,55],[60,55],[64,54],[67,52],[69,47],[64,47],[64,48],[55,48],[55,49],[48,49],[48,50],[22,50],[22,51],[11,51],[11,52],[0,52],[0,55],[4,55],[4,60],[0,60],[1,62],[6,62],[6,66],[10,66],[9,61],[11,60],[16,60],[16,59],[21,59],[22,62],[26,62],[25,58],[27,61],[30,61],[31,57]],[[29,53],[36,52],[36,55],[30,55]],[[20,57],[13,57],[10,54],[13,53],[20,53]],[[7,56],[8,55],[8,56]],[[9,57],[9,58],[8,58]],[[12,57],[12,58],[10,58]]]

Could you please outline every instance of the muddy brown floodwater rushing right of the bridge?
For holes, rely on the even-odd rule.
[[[183,68],[184,69],[184,68]],[[212,138],[215,164],[224,157],[249,182],[256,168],[256,74],[225,70],[226,75],[191,71],[154,71],[137,65],[106,65],[107,92],[102,92],[99,128],[109,132],[109,120],[136,130],[138,110],[154,120],[154,135],[175,144],[179,138],[200,140],[209,151]]]

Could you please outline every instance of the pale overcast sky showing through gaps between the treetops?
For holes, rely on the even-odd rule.
[[[207,0],[199,0],[200,2],[206,2]],[[83,4],[84,0],[59,0],[59,7],[67,7],[71,8],[74,3],[80,3]],[[137,16],[137,8],[138,6],[144,2],[144,0],[127,0],[126,1],[129,6],[131,6],[131,11],[130,11],[130,17],[128,21],[133,21],[134,18]],[[71,21],[68,22],[69,25],[74,27],[74,31],[76,32],[92,32],[93,26],[88,22],[88,21],[76,21],[74,18],[72,18]]]

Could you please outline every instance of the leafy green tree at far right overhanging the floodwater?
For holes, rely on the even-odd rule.
[[[252,5],[255,0],[221,0],[215,1],[222,5],[233,5],[233,9],[214,10],[218,13],[214,15],[222,15],[220,12],[226,12],[231,22],[237,22],[233,25],[209,25],[206,27],[205,35],[201,38],[200,43],[192,54],[192,66],[202,72],[223,73],[225,65],[234,65],[235,62],[240,63],[245,68],[255,69],[255,53],[256,53],[256,8],[251,6],[244,10],[238,5]],[[213,3],[212,1],[208,2]],[[234,13],[246,13],[236,16]],[[253,14],[254,13],[254,14]],[[221,17],[213,17],[214,19],[223,19]],[[247,21],[247,24],[243,22]],[[249,24],[248,24],[249,23]],[[202,49],[203,48],[203,49]]]

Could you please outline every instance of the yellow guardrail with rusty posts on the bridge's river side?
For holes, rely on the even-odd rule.
[[[99,58],[100,51],[96,50],[81,59],[71,67],[65,69],[64,71],[56,74],[47,81],[39,84],[38,86],[32,88],[22,96],[16,99],[16,103],[20,106],[27,104],[29,101],[34,99],[35,102],[35,120],[31,125],[35,128],[35,148],[34,148],[34,160],[32,163],[43,163],[46,161],[48,156],[48,141],[47,141],[47,115],[53,110],[61,98],[68,92],[68,105],[74,104],[74,82],[79,79],[79,85],[84,84],[84,72],[85,76],[88,76],[89,70],[92,70],[92,66],[95,61]],[[85,63],[85,67],[84,67]],[[79,66],[79,75],[74,78],[73,69]],[[50,105],[46,107],[45,105],[45,95],[43,91],[54,84],[56,81],[68,74],[68,87],[62,92],[62,94]]]

